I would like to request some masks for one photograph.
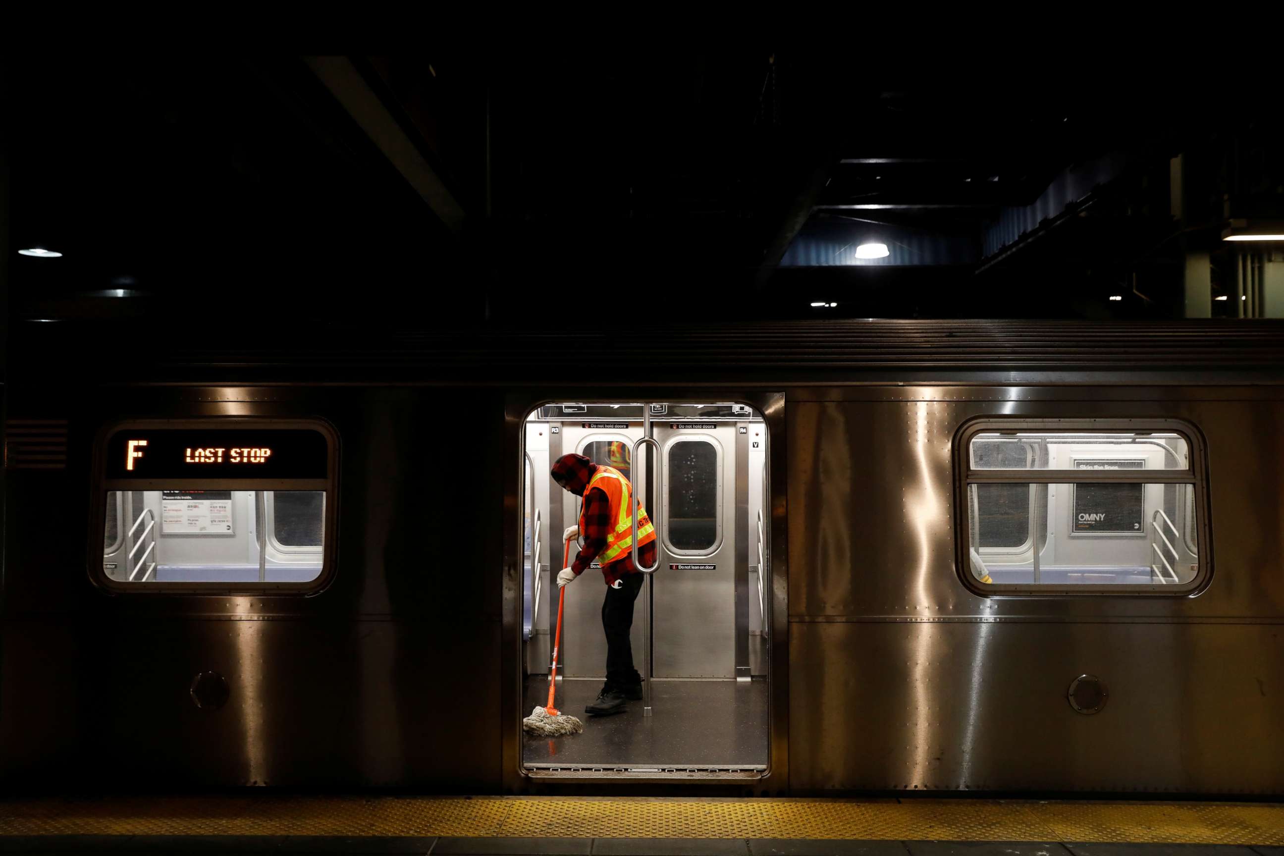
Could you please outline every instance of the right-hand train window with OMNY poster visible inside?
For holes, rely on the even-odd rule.
[[[1179,593],[1202,581],[1194,431],[1098,425],[964,429],[959,566],[978,590]]]

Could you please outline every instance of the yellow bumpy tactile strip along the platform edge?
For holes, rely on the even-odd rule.
[[[0,835],[71,834],[1284,844],[1284,805],[267,794],[0,802]]]

